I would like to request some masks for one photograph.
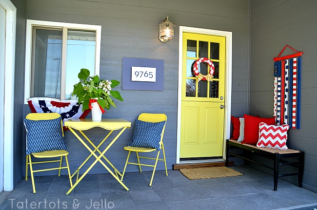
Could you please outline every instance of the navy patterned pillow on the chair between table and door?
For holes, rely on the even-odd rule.
[[[136,125],[130,147],[155,148],[160,150],[161,134],[166,121],[145,122],[136,119]]]

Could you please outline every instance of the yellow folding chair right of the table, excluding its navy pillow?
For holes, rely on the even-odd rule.
[[[142,113],[138,117],[138,120],[145,121],[145,122],[151,122],[151,123],[158,123],[158,122],[162,122],[162,121],[166,122],[166,119],[167,119],[167,117],[164,114]],[[163,129],[162,129],[162,132],[160,134],[160,141],[159,141],[159,146],[158,146],[159,149],[163,151],[163,159],[159,159],[158,158],[160,150],[157,150],[155,148],[134,147],[134,146],[124,147],[123,149],[129,151],[129,153],[128,153],[128,157],[127,157],[127,160],[125,162],[125,166],[124,166],[124,169],[123,169],[123,172],[122,172],[121,181],[123,180],[123,176],[124,176],[124,172],[125,172],[125,169],[127,167],[127,164],[139,165],[139,171],[140,172],[142,172],[141,166],[149,166],[149,167],[154,167],[153,172],[152,172],[151,182],[150,182],[150,185],[149,185],[149,186],[152,186],[152,181],[153,181],[153,177],[154,177],[154,173],[155,173],[155,170],[156,170],[156,167],[157,167],[158,160],[164,161],[165,172],[166,172],[166,175],[168,175],[167,174],[167,167],[166,167],[165,152],[164,152],[164,144],[163,144],[163,135],[164,135],[164,130],[165,130],[165,122],[164,122],[164,126],[163,126]],[[139,153],[150,153],[150,152],[155,152],[155,151],[158,152],[156,158],[139,156]],[[128,162],[131,152],[136,152],[137,153],[138,163]],[[139,158],[153,159],[153,160],[155,160],[155,164],[154,165],[141,164]]]

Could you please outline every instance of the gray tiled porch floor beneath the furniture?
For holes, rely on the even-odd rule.
[[[0,210],[114,209],[114,210],[314,210],[317,193],[278,180],[249,166],[230,167],[242,176],[189,180],[179,171],[124,175],[126,191],[110,174],[88,174],[69,194],[67,176],[37,176],[37,193],[31,179],[21,180],[11,192],[0,193]],[[34,202],[34,203],[31,203]],[[31,206],[33,204],[33,206]],[[95,206],[94,206],[95,204]]]

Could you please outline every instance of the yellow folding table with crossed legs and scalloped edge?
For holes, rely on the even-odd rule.
[[[131,122],[126,121],[124,119],[101,119],[101,121],[92,121],[91,119],[69,119],[65,121],[64,124],[69,130],[79,139],[79,141],[87,148],[87,150],[91,153],[86,160],[79,166],[79,168],[72,174],[71,178],[73,178],[77,174],[76,183],[66,192],[68,195],[74,188],[79,184],[82,178],[96,165],[97,162],[100,162],[104,168],[108,172],[116,178],[116,180],[128,191],[129,189],[122,183],[119,179],[119,176],[122,174],[114,167],[114,165],[104,156],[104,154],[109,150],[109,148],[115,143],[115,141],[119,138],[119,136],[123,133],[126,128],[131,127]],[[83,131],[89,130],[94,127],[100,127],[105,130],[110,131],[109,134],[104,137],[104,139],[96,146],[84,133]],[[94,148],[92,150],[86,142],[74,131],[79,131],[80,134],[91,144]],[[109,143],[109,145],[101,152],[99,147],[105,142],[105,140],[113,133],[113,131],[120,130],[119,134]],[[98,152],[99,154],[96,154]],[[96,160],[89,166],[89,168],[79,177],[79,170],[83,167],[83,165],[89,160],[91,156],[94,156]],[[101,157],[113,168],[114,172],[103,162]]]

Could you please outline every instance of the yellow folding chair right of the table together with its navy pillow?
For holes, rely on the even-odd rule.
[[[150,114],[142,113],[139,115],[136,120],[135,129],[132,137],[132,141],[128,144],[127,147],[124,147],[124,150],[129,151],[125,166],[122,172],[121,181],[123,180],[124,172],[126,170],[127,164],[138,165],[139,171],[142,172],[141,166],[154,167],[152,172],[152,177],[150,181],[150,186],[152,186],[152,181],[154,173],[157,167],[158,160],[164,161],[165,172],[167,174],[165,151],[163,144],[163,135],[166,124],[166,115],[164,114]],[[163,152],[163,159],[159,159],[160,151]],[[136,152],[138,163],[129,162],[129,157],[131,152]],[[139,156],[139,153],[150,153],[157,152],[156,158]],[[155,160],[154,165],[141,164],[140,158],[152,159]]]

